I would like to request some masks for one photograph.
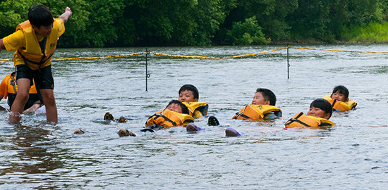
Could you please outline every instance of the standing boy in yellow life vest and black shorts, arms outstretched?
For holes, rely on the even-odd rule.
[[[54,19],[47,6],[34,6],[28,12],[28,20],[20,23],[16,32],[0,39],[0,51],[4,47],[7,51],[16,51],[13,61],[16,66],[18,94],[11,107],[9,122],[20,122],[20,113],[23,113],[28,101],[32,79],[46,105],[47,121],[58,122],[51,58],[59,37],[65,32],[64,23],[71,15],[71,9],[66,7],[65,12]]]

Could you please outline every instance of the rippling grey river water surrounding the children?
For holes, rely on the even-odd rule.
[[[163,47],[187,56],[236,56],[282,46]],[[320,49],[388,51],[388,45],[317,45]],[[111,56],[144,48],[58,49],[54,58]],[[12,53],[1,52],[1,58]],[[234,59],[147,56],[53,61],[59,122],[0,113],[0,189],[385,189],[388,184],[388,53],[289,49]],[[13,63],[0,65],[5,77]],[[147,117],[194,84],[208,115],[184,127],[140,132]],[[330,129],[284,129],[295,113],[343,84],[356,110],[334,113]],[[283,117],[231,120],[258,87],[277,95]],[[6,101],[1,106],[8,108]],[[104,113],[126,123],[106,122]],[[119,137],[124,127],[137,137]],[[245,133],[225,137],[233,127]],[[73,134],[75,129],[85,134]]]

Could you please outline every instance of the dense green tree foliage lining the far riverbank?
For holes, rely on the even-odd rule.
[[[37,4],[54,17],[72,9],[63,47],[368,42],[375,32],[388,39],[373,31],[387,27],[388,0],[0,0],[2,37]]]

